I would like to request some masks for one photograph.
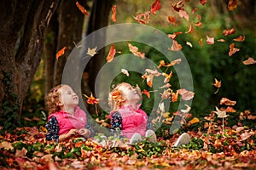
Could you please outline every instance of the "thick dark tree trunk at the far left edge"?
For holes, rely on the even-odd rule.
[[[21,114],[58,0],[4,1],[0,6],[0,113]]]

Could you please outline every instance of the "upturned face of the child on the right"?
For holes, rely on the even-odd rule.
[[[123,94],[125,95],[125,99],[129,104],[137,104],[138,101],[142,99],[142,95],[139,94],[137,88],[132,88],[132,86],[128,83],[124,83],[120,90],[122,90]]]

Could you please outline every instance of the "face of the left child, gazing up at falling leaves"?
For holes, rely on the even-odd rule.
[[[75,107],[79,105],[79,96],[70,86],[63,85],[60,90],[60,102],[64,107]]]

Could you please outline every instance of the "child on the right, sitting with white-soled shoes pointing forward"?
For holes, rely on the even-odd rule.
[[[131,84],[122,82],[109,93],[108,102],[112,109],[110,112],[112,134],[121,133],[135,144],[145,136],[149,141],[157,141],[152,123],[148,116],[140,109],[142,94]],[[175,147],[189,143],[189,134],[183,133],[174,144]]]

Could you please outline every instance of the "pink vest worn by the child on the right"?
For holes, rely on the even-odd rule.
[[[147,130],[148,116],[137,105],[137,110],[133,109],[131,105],[122,106],[118,112],[122,116],[123,130],[122,134],[131,139],[134,133],[140,133],[145,136]]]

